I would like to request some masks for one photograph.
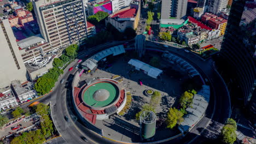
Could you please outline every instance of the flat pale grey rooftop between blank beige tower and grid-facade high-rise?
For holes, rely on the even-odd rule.
[[[26,47],[36,44],[40,41],[44,41],[44,39],[42,38],[41,34],[37,34],[32,37],[22,39],[22,40],[18,41],[17,44],[19,45],[19,47],[21,47],[21,49],[25,49]]]

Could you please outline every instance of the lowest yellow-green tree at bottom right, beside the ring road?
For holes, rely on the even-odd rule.
[[[235,128],[233,125],[226,124],[222,128],[222,136],[223,136],[223,142],[227,144],[232,144],[236,141],[236,133]]]

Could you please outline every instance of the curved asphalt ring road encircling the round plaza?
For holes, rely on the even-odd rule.
[[[107,45],[101,45],[94,47],[94,49],[89,49],[87,52],[83,55],[80,55],[79,58],[82,58],[85,56],[85,54],[92,54],[96,53],[102,49],[106,49],[106,47],[111,47],[115,45],[119,45],[122,42],[114,42]],[[148,42],[150,43],[150,42]],[[155,49],[157,45],[154,46],[154,44],[149,45],[149,47],[152,47]],[[160,45],[159,45],[160,46]],[[212,67],[212,61],[206,61],[203,62],[200,58],[196,57],[192,53],[184,52],[184,50],[178,50],[176,48],[168,49],[172,53],[175,53],[177,56],[182,57],[189,63],[191,63],[196,69],[199,70],[199,72],[202,74],[204,78],[207,78],[211,83],[211,89],[213,89],[213,93],[211,94],[211,100],[210,105],[207,109],[206,116],[203,117],[191,131],[189,134],[187,134],[184,139],[179,140],[172,140],[166,143],[187,143],[191,139],[193,139],[194,143],[197,143],[198,138],[202,139],[201,136],[197,136],[203,128],[205,128],[208,125],[208,122],[211,120],[211,116],[213,116],[214,121],[218,121],[220,123],[224,123],[225,119],[228,118],[229,115],[229,104],[228,99],[226,98],[226,89],[223,85],[223,82],[220,80],[221,77],[219,77],[216,74],[216,71],[214,71],[214,68]],[[59,81],[57,81],[56,86],[50,94],[46,95],[43,98],[38,99],[37,101],[40,101],[42,103],[46,103],[49,100],[51,101],[51,109],[52,109],[52,115],[53,115],[53,121],[55,124],[55,127],[57,130],[61,133],[64,141],[67,143],[85,143],[81,139],[81,137],[87,137],[89,142],[88,143],[118,143],[114,141],[107,140],[100,135],[94,133],[94,131],[91,131],[87,129],[84,125],[79,123],[77,121],[77,118],[74,115],[74,112],[72,110],[72,100],[71,100],[71,90],[65,88],[65,83],[60,84],[60,80],[65,79],[67,80],[69,76],[72,76],[76,70],[73,69],[72,71],[68,71],[68,68],[75,67],[77,65],[77,60],[73,61],[71,64],[68,65],[68,67],[64,70],[64,74],[60,76]],[[207,63],[207,64],[206,64]],[[72,81],[72,80],[70,80]],[[70,82],[69,81],[69,82]],[[68,82],[67,82],[68,85]],[[67,97],[66,97],[67,96]],[[215,99],[216,98],[216,99]],[[30,104],[30,103],[28,103]],[[25,104],[27,106],[28,104]],[[22,105],[23,107],[23,105]],[[215,110],[214,110],[215,109]],[[213,113],[214,111],[214,113]],[[213,115],[211,115],[213,113]],[[65,116],[69,117],[69,122],[65,120]],[[72,119],[72,121],[71,121]],[[196,139],[195,139],[196,137]]]

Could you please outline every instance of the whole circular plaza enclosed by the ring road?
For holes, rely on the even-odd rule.
[[[83,59],[72,81],[77,116],[95,133],[124,143],[160,143],[185,135],[207,109],[209,86],[181,57],[147,49],[144,58],[139,59],[133,51],[119,45]],[[155,57],[159,63],[152,67]],[[167,128],[167,112],[171,107],[179,109],[183,85],[189,80],[200,83],[200,89],[194,94],[191,107],[187,107],[184,121]],[[160,98],[152,103],[156,93]],[[137,114],[151,104],[154,110]]]

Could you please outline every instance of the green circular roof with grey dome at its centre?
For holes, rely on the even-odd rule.
[[[82,96],[88,106],[106,107],[117,100],[119,89],[113,83],[102,81],[89,85]]]

